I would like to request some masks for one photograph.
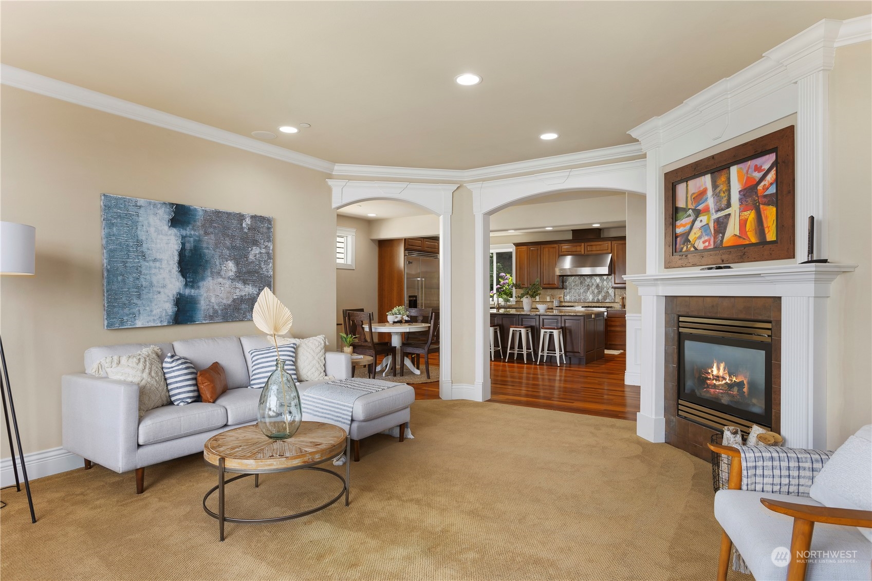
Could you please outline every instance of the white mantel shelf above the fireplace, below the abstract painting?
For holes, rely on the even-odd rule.
[[[640,295],[662,297],[829,297],[829,286],[856,264],[787,264],[723,270],[685,270],[624,277]]]

